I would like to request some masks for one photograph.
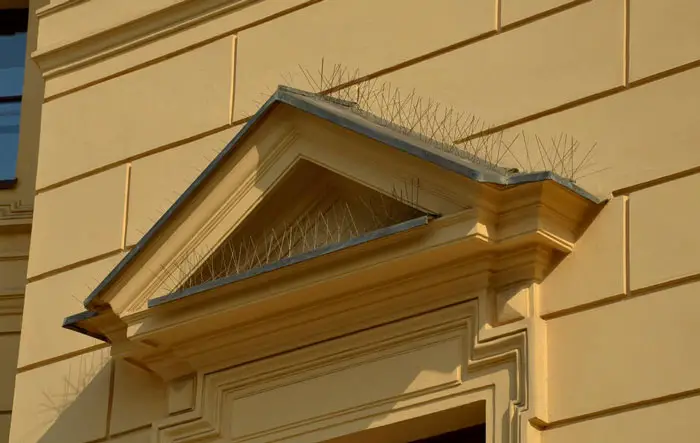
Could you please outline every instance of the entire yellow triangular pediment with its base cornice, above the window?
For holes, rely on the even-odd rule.
[[[485,328],[526,319],[527,288],[573,250],[598,202],[548,173],[452,159],[348,106],[281,89],[66,327],[171,380],[476,297]],[[275,223],[350,210],[356,194],[414,215],[183,286],[239,233],[259,248]]]

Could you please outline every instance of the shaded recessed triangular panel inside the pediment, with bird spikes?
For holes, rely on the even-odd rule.
[[[214,251],[199,251],[171,278],[170,292],[289,262],[426,214],[417,184],[387,196],[300,160]],[[253,272],[254,273],[254,272]]]

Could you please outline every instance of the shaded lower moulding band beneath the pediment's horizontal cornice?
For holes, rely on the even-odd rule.
[[[290,301],[285,310],[275,315],[245,323],[232,322],[230,327],[207,333],[206,340],[193,337],[165,353],[156,350],[144,362],[164,374],[172,371],[173,360],[183,362],[190,371],[194,371],[192,368],[217,371],[440,309],[478,296],[480,288],[488,284],[485,262],[461,261],[296,307]],[[470,272],[464,272],[465,268]],[[149,340],[148,333],[142,333],[142,337],[134,339]],[[157,335],[151,338],[151,343],[158,341]]]

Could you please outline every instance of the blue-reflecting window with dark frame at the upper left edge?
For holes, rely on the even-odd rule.
[[[28,9],[0,9],[0,188],[14,185]]]

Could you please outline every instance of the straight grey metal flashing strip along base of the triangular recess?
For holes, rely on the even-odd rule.
[[[195,294],[199,294],[212,289],[220,288],[222,286],[230,285],[231,283],[239,282],[242,280],[247,280],[249,278],[257,277],[258,275],[266,274],[268,272],[276,271],[281,268],[292,266],[298,263],[309,261],[315,258],[323,257],[325,255],[332,254],[334,252],[342,251],[345,249],[352,248],[353,246],[359,246],[364,243],[371,242],[373,240],[378,240],[380,238],[386,238],[392,235],[396,235],[401,232],[406,232],[413,228],[419,226],[425,226],[432,217],[424,215],[422,217],[414,218],[402,223],[388,226],[386,228],[377,229],[376,231],[368,232],[367,234],[360,235],[344,242],[333,243],[322,248],[314,249],[313,251],[306,252],[304,254],[295,255],[292,257],[283,258],[282,260],[275,261],[273,263],[267,264],[265,266],[260,266],[258,268],[251,269],[249,271],[230,275],[228,277],[219,278],[217,280],[212,280],[201,285],[193,286],[182,291],[173,292],[171,294],[164,295],[162,297],[157,297],[148,301],[148,307],[154,308],[160,306],[164,303],[170,303],[175,300],[181,300],[186,297],[190,297]]]

